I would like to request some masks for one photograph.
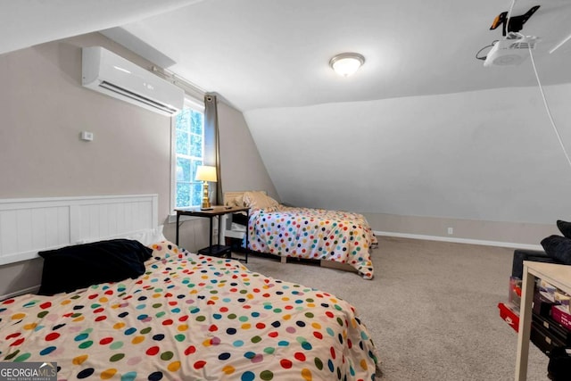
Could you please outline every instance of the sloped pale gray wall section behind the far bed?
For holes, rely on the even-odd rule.
[[[571,150],[571,85],[545,93]],[[365,212],[383,231],[402,229],[387,216],[482,221],[484,230],[465,232],[477,239],[485,239],[486,221],[516,224],[514,231],[538,226],[532,235],[500,235],[525,244],[571,218],[571,168],[537,87],[254,110],[245,118],[287,203]],[[430,225],[418,234],[447,236]]]

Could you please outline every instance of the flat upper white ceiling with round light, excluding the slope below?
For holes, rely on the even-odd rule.
[[[241,111],[534,84],[527,67],[483,68],[475,55],[501,37],[489,30],[511,1],[481,0],[53,0],[3,1],[0,54],[62,37],[122,27],[175,63],[169,69],[218,92]],[[571,42],[567,0],[519,0],[540,9],[522,32],[542,37],[545,84],[571,82],[561,67]],[[10,36],[5,38],[5,36]],[[329,59],[358,52],[366,64],[335,76]],[[487,50],[484,50],[485,54]],[[557,76],[551,75],[557,73]]]

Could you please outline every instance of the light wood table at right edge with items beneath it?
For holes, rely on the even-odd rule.
[[[543,279],[564,293],[571,294],[571,266],[535,261],[524,261],[519,329],[517,332],[516,381],[527,377],[529,335],[532,327],[535,278]]]

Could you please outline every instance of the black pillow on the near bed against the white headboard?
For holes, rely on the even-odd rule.
[[[91,285],[118,282],[145,273],[153,249],[138,241],[112,239],[39,252],[44,258],[41,295],[69,293]]]

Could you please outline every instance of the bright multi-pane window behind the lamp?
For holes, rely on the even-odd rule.
[[[172,118],[174,208],[200,206],[202,182],[195,181],[196,167],[205,155],[204,107],[186,100],[185,108]]]

